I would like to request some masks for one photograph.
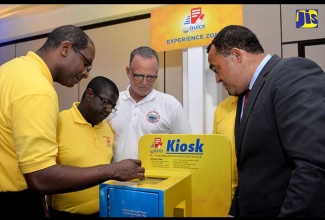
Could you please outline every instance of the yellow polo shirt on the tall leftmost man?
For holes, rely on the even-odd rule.
[[[0,67],[0,192],[24,190],[23,173],[56,164],[58,113],[52,75],[37,54]]]

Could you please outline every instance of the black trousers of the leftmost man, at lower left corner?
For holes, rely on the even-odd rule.
[[[10,219],[46,217],[44,196],[28,189],[19,192],[0,192],[0,209],[1,216],[9,216]]]

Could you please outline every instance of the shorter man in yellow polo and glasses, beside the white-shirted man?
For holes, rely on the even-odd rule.
[[[59,113],[57,162],[88,167],[108,164],[113,157],[114,134],[106,122],[115,111],[119,90],[110,79],[93,78],[80,102]],[[99,186],[52,195],[51,217],[99,217]],[[83,216],[85,215],[85,216]]]

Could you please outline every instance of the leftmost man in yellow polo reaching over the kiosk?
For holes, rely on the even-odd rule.
[[[58,97],[54,82],[87,78],[95,46],[79,27],[54,29],[36,52],[0,66],[0,207],[2,216],[45,216],[44,195],[83,190],[109,179],[144,178],[140,160],[74,167],[56,163]]]

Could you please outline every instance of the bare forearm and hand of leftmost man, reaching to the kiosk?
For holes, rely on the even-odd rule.
[[[143,179],[144,172],[140,160],[126,159],[93,167],[57,164],[24,176],[30,189],[41,194],[54,194],[86,189],[110,179],[119,181]]]

